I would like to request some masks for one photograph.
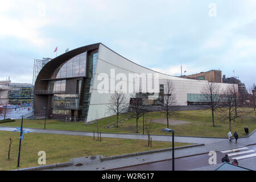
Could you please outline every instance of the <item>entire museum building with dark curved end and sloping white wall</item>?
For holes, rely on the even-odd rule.
[[[114,73],[113,73],[114,71]],[[133,93],[140,93],[147,88],[135,79],[128,80],[129,74],[149,74],[159,80],[159,90],[143,92],[147,105],[163,105],[164,85],[172,81],[176,94],[176,105],[187,106],[195,102],[207,80],[194,80],[170,76],[142,67],[101,43],[73,49],[49,61],[38,74],[34,89],[34,116],[69,119],[81,118],[92,121],[96,118],[108,117],[110,96],[122,81],[123,86],[133,85],[133,92],[125,93],[128,100]],[[103,75],[103,76],[102,76]],[[122,79],[117,75],[122,75]],[[114,86],[100,86],[103,80]],[[228,84],[221,84],[221,89]],[[133,100],[130,100],[133,102]],[[198,102],[201,100],[197,98]]]

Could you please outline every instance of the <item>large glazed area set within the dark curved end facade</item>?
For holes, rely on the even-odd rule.
[[[88,55],[88,65],[86,65],[86,56],[87,52],[84,52],[69,59],[61,64],[52,75],[51,78],[54,80],[48,82],[47,89],[49,94],[53,94],[51,96],[52,114],[65,114],[71,117],[76,115],[76,117],[80,118],[87,117],[90,104],[90,88],[93,84],[98,53]],[[88,71],[87,74],[86,70]],[[68,94],[66,90],[66,79],[71,77],[84,77],[76,81],[76,94]],[[83,96],[82,98],[81,95]],[[82,105],[79,105],[79,103]],[[81,115],[77,115],[78,110],[80,110]]]

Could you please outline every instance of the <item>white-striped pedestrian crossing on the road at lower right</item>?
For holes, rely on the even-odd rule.
[[[246,159],[256,156],[256,152],[254,150],[250,150],[247,147],[234,148],[232,150],[220,151],[223,154],[228,154],[232,159]],[[251,153],[251,154],[249,154]]]

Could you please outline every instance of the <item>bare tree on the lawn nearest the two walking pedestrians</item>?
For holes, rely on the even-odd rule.
[[[244,118],[250,113],[250,111],[246,111],[244,107],[237,105],[237,89],[236,84],[230,84],[222,94],[220,107],[217,108],[218,114],[224,119],[229,120],[229,131],[232,131],[232,121],[236,122],[238,118]]]

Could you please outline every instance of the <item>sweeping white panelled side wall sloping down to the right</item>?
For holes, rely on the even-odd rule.
[[[110,70],[115,70],[115,75],[110,74]],[[150,69],[141,67],[138,64],[135,64],[124,57],[118,55],[111,49],[105,47],[104,45],[100,44],[99,50],[98,50],[98,60],[96,65],[96,71],[95,71],[95,77],[93,81],[92,86],[92,92],[90,97],[90,105],[89,105],[89,111],[88,111],[88,118],[87,121],[92,121],[97,118],[104,118],[111,115],[107,111],[107,105],[109,104],[111,93],[99,93],[98,91],[113,91],[114,89],[101,89],[98,90],[98,85],[102,82],[101,81],[101,73],[105,73],[106,77],[109,79],[109,85],[110,80],[115,82],[119,82],[118,80],[115,80],[115,76],[118,73],[123,73],[127,76],[127,79],[124,80],[126,84],[129,83],[128,77],[129,73],[152,73],[154,76],[154,73],[158,73],[155,71],[152,71]],[[159,84],[163,84],[166,82],[165,80],[172,80],[172,83],[174,85],[174,93],[176,93],[177,103],[176,105],[187,105],[187,93],[196,93],[200,94],[202,86],[207,84],[208,81],[204,80],[192,80],[187,78],[181,78],[181,77],[175,77],[175,76],[169,76],[164,75],[162,73],[159,73]],[[221,88],[225,88],[228,86],[228,84],[220,84]],[[110,87],[110,86],[109,86]],[[136,90],[138,91],[138,90]],[[129,99],[131,94],[127,93],[126,97]]]

